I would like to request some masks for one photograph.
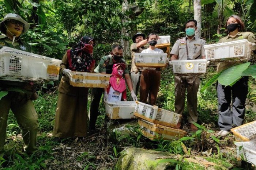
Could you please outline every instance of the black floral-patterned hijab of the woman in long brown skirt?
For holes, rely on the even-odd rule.
[[[90,41],[95,43],[92,37],[83,36],[80,42],[68,51],[70,53],[70,55],[68,55],[68,65],[70,70],[87,72],[90,69],[90,66],[94,61],[93,54],[84,51],[85,44],[88,44]]]

